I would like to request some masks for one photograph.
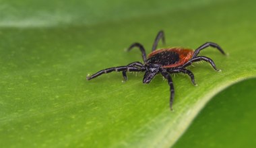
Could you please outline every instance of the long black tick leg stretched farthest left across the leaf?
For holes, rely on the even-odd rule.
[[[137,68],[137,67],[129,67],[129,66],[121,66],[121,67],[111,67],[108,69],[103,69],[101,71],[98,71],[97,73],[94,73],[91,76],[87,76],[86,79],[90,80],[90,79],[94,79],[95,77],[98,77],[104,73],[110,73],[113,71],[141,71],[141,69]]]

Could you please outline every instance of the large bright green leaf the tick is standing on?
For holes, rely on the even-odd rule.
[[[251,1],[1,1],[0,143],[3,147],[170,147],[205,104],[224,88],[256,76],[255,4]],[[207,63],[172,75],[102,75],[100,69],[141,61],[159,30],[170,46],[197,48]],[[160,45],[160,48],[163,47]],[[249,88],[253,89],[253,88]]]

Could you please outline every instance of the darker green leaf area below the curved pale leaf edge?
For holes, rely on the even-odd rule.
[[[256,79],[212,98],[174,147],[255,147]]]

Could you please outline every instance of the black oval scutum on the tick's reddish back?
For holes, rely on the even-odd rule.
[[[173,51],[163,51],[157,54],[154,54],[150,57],[147,63],[156,63],[160,65],[172,65],[179,61],[179,54]]]

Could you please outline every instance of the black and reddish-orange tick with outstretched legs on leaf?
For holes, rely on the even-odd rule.
[[[145,71],[143,76],[143,83],[150,83],[156,74],[160,73],[165,79],[168,81],[168,85],[170,86],[170,109],[172,110],[172,102],[174,100],[174,85],[172,83],[172,77],[170,74],[172,73],[185,73],[189,75],[193,85],[196,85],[194,75],[191,71],[186,69],[189,65],[198,61],[206,61],[210,63],[212,67],[216,71],[220,71],[216,68],[216,65],[212,59],[209,57],[198,56],[199,52],[204,48],[209,46],[217,48],[222,54],[225,54],[224,50],[220,48],[220,46],[214,42],[206,42],[199,46],[196,50],[192,50],[190,48],[182,48],[182,47],[172,47],[172,48],[161,48],[156,50],[158,42],[162,39],[163,44],[165,44],[164,40],[164,32],[161,30],[158,32],[156,39],[154,40],[154,44],[152,46],[152,52],[148,54],[146,57],[145,48],[135,42],[129,46],[128,51],[134,47],[139,48],[142,54],[143,63],[141,62],[133,62],[126,66],[119,67],[111,67],[108,69],[103,69],[94,73],[91,76],[88,76],[87,79],[94,79],[104,73],[110,73],[113,71],[122,71],[123,77],[127,80],[127,72],[131,71]]]

